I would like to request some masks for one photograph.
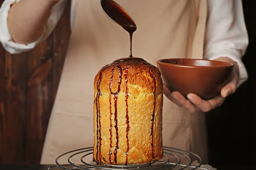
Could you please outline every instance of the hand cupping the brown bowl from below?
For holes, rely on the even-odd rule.
[[[221,57],[216,60],[232,62],[234,64],[233,73],[230,77],[229,82],[227,82],[227,85],[225,85],[224,88],[221,89],[221,93],[217,96],[214,96],[209,100],[203,100],[196,94],[188,94],[187,98],[189,100],[187,100],[177,91],[171,93],[165,86],[163,87],[163,94],[165,94],[166,97],[174,102],[176,105],[186,108],[189,113],[195,113],[199,110],[208,112],[222,105],[226,97],[230,94],[235,93],[236,91],[237,83],[239,81],[239,68],[236,62],[227,57]]]

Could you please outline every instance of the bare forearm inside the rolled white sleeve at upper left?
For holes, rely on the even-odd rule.
[[[55,2],[48,0],[21,0],[9,11],[8,27],[12,39],[20,44],[37,40],[51,14]]]

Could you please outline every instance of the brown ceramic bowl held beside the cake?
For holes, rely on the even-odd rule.
[[[193,93],[206,100],[220,93],[234,65],[205,59],[160,59],[157,67],[171,92],[178,91],[185,97]]]

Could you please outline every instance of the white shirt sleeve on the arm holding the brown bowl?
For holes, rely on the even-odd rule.
[[[205,59],[229,57],[239,65],[238,87],[247,80],[241,60],[248,46],[241,0],[208,0]]]

